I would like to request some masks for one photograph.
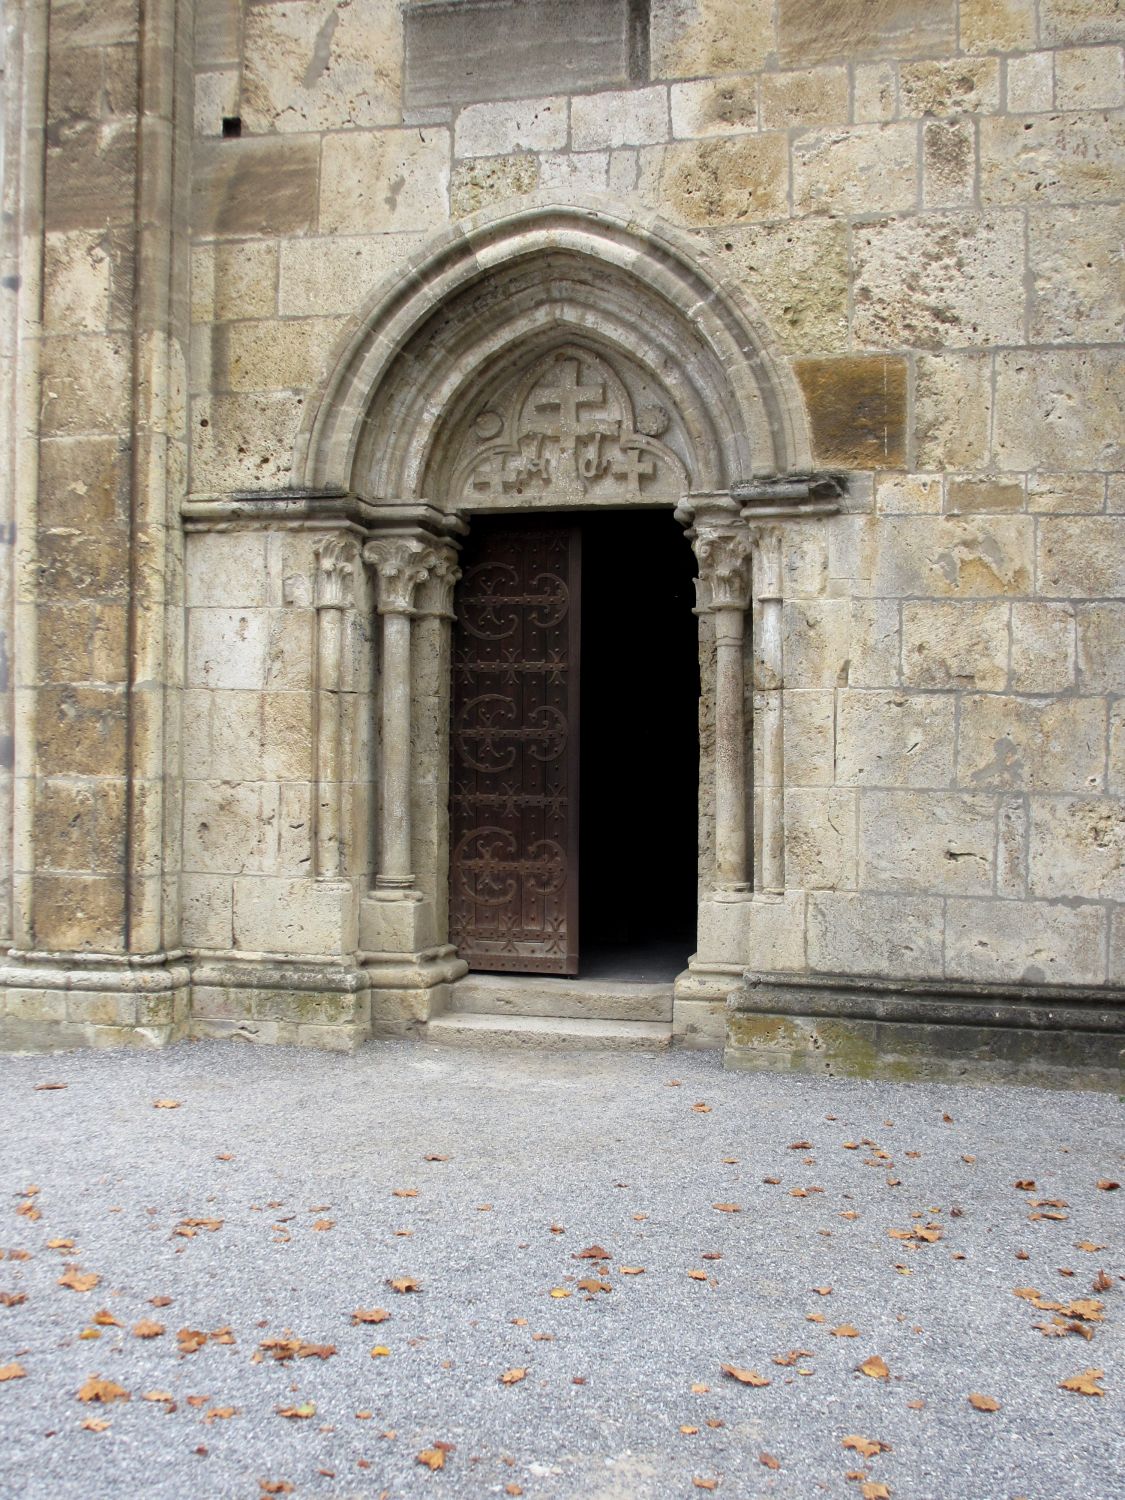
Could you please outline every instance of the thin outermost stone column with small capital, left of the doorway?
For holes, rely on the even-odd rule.
[[[340,693],[344,622],[352,602],[357,544],[328,537],[316,548],[316,801],[314,850],[318,880],[344,873],[340,846]]]

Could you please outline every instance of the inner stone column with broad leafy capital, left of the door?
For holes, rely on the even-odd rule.
[[[378,579],[382,616],[382,747],[380,786],[382,818],[376,891],[414,890],[411,870],[411,615],[414,592],[435,567],[432,548],[414,538],[369,542],[364,560]]]

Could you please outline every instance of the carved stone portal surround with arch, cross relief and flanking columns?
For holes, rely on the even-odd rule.
[[[358,496],[370,526],[364,558],[382,616],[378,874],[360,946],[376,992],[426,1018],[465,972],[448,942],[450,620],[460,538],[484,514],[550,514],[573,530],[566,518],[578,512],[663,508],[692,526],[699,780],[668,795],[704,810],[700,900],[752,897],[742,616],[754,543],[742,492],[788,494],[801,474],[807,492],[807,468],[804,406],[762,318],[694,242],[656,220],[534,201],[482,214],[370,298],[310,411],[296,471],[310,490]],[[621,567],[644,567],[630,550]],[[598,650],[627,670],[645,621],[621,624]],[[518,676],[542,663],[508,666]],[[537,732],[514,712],[506,722],[514,740]],[[578,720],[560,744],[567,735]],[[546,844],[520,850],[513,837],[502,860],[472,844],[474,861],[500,861],[508,880],[525,856],[542,884]],[[552,836],[555,862],[560,846]],[[552,866],[552,890],[558,879]],[[734,952],[704,957],[738,972]]]

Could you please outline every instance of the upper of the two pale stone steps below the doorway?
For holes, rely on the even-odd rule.
[[[450,988],[452,1012],[474,1016],[570,1016],[574,1020],[670,1022],[672,986],[627,980],[562,980],[544,975],[470,974]]]

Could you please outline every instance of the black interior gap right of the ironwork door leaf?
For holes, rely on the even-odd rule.
[[[694,950],[694,560],[669,510],[582,526],[582,978],[670,980]]]

